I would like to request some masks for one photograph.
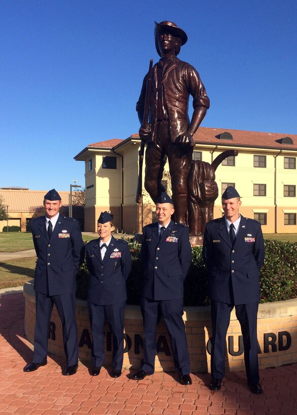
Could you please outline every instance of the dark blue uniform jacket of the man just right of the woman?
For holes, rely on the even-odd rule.
[[[183,281],[192,256],[189,231],[170,221],[159,242],[158,222],[144,226],[141,244],[142,296],[151,300],[183,297]]]

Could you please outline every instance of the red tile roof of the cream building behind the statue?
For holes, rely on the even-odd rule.
[[[232,135],[233,140],[220,140],[219,135],[228,132]],[[138,134],[131,134],[132,138],[139,138]],[[281,144],[276,140],[285,137],[290,137],[293,144]],[[221,128],[200,127],[194,134],[194,140],[197,144],[220,144],[229,145],[231,147],[263,147],[263,148],[287,148],[297,150],[297,135],[296,134],[280,134],[280,133],[264,133],[257,131],[243,131],[243,130],[226,130]],[[90,144],[88,147],[115,147],[120,144],[121,139],[115,138],[113,140],[101,141],[99,143]]]

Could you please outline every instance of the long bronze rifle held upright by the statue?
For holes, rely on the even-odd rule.
[[[149,106],[150,106],[150,97],[151,97],[151,88],[152,88],[152,75],[153,75],[153,59],[150,60],[149,73],[147,75],[146,81],[146,92],[144,100],[144,113],[143,113],[143,122],[142,128],[146,129],[149,125]],[[142,164],[143,164],[143,154],[144,154],[145,141],[141,140],[139,154],[139,171],[138,171],[138,180],[136,188],[136,203],[141,203],[142,201]]]

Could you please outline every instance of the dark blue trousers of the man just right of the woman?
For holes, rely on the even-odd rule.
[[[182,320],[183,299],[157,301],[141,297],[140,306],[144,325],[141,369],[150,375],[154,373],[157,324],[162,315],[169,333],[175,369],[179,375],[189,375],[190,358]]]

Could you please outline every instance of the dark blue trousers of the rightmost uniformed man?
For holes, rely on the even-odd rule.
[[[249,384],[259,383],[257,354],[258,301],[235,306],[211,301],[211,376],[213,379],[222,379],[225,376],[226,335],[233,307],[235,307],[236,317],[241,326],[247,381]]]

